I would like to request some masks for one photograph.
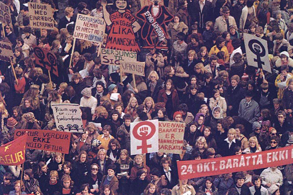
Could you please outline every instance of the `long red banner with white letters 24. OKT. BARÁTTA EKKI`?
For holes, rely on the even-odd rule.
[[[180,180],[230,172],[255,170],[293,163],[293,145],[263,152],[209,158],[202,160],[177,161]]]

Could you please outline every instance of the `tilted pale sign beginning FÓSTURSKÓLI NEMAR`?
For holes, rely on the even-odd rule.
[[[103,18],[77,14],[73,37],[103,43],[106,23]]]

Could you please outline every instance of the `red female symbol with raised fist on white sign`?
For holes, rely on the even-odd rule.
[[[153,135],[155,134],[155,132],[156,132],[155,125],[149,121],[140,122],[133,127],[133,131],[132,131],[133,136],[138,140],[142,140],[142,145],[137,146],[138,150],[142,149],[142,154],[148,153],[147,149],[151,148],[151,144],[147,144],[147,140],[151,139]]]

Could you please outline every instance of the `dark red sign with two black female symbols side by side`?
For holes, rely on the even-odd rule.
[[[42,47],[33,45],[35,53],[36,64],[45,67],[48,71],[52,72],[58,77],[57,58],[54,54],[43,49]]]

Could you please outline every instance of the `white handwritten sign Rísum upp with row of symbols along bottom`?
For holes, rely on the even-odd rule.
[[[56,103],[52,104],[52,109],[57,131],[84,132],[84,125],[81,120],[81,111],[78,104]]]

